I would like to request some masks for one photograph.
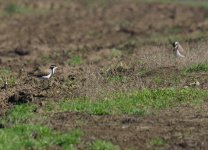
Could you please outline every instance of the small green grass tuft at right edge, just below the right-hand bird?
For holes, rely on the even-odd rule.
[[[208,72],[208,64],[195,64],[183,70],[184,73]]]

